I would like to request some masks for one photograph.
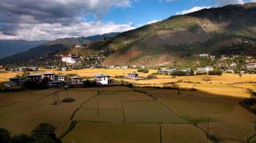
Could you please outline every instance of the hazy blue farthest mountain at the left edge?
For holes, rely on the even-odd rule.
[[[25,40],[9,40],[0,39],[0,58],[7,55],[13,55],[25,50],[29,50],[31,47],[42,45],[46,41],[25,41]]]

